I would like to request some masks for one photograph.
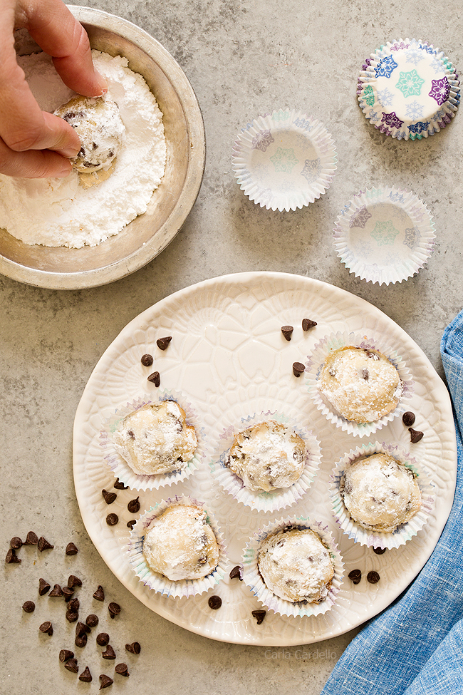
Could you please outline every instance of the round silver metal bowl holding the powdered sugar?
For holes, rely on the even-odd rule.
[[[163,114],[167,160],[147,212],[98,246],[29,246],[0,230],[0,273],[50,289],[97,287],[125,277],[155,258],[177,235],[192,209],[206,156],[197,98],[170,53],[125,19],[88,7],[69,9],[85,27],[92,48],[125,56],[130,69],[145,78]]]

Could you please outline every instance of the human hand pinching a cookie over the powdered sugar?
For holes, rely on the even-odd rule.
[[[16,61],[14,29],[26,28],[53,56],[63,82],[83,96],[101,96],[105,79],[95,71],[83,26],[62,0],[0,2],[0,173],[26,178],[65,177],[80,140],[62,118],[42,111]]]

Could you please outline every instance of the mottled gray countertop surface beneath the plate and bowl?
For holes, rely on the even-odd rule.
[[[291,272],[363,297],[405,329],[442,376],[439,341],[462,308],[462,115],[435,136],[397,142],[378,133],[358,108],[360,66],[394,38],[422,38],[463,66],[457,0],[444,11],[410,0],[96,0],[91,5],[129,19],[177,59],[197,94],[207,136],[204,181],[175,240],[130,277],[84,291],[51,291],[0,277],[1,536],[43,535],[53,551],[23,548],[21,565],[4,565],[1,589],[1,690],[9,695],[98,688],[76,685],[58,663],[63,639],[39,634],[21,610],[36,600],[38,577],[103,585],[124,619],[110,624],[131,671],[113,691],[174,694],[318,694],[355,631],[305,647],[244,647],[215,642],[151,612],[118,582],[85,531],[72,472],[73,418],[93,367],[123,326],[168,294],[202,279],[248,270]],[[326,195],[296,212],[271,212],[250,202],[234,180],[236,133],[259,113],[297,108],[321,120],[338,150],[338,171]],[[406,282],[379,287],[353,277],[333,250],[340,210],[365,187],[415,192],[430,208],[435,250]],[[76,543],[79,553],[66,557]],[[90,610],[91,608],[91,610]],[[91,602],[88,612],[92,612]],[[53,607],[56,615],[63,607]],[[95,611],[96,612],[96,611]],[[53,617],[50,619],[53,620]],[[105,622],[108,627],[108,621]],[[102,627],[103,629],[103,627]],[[60,641],[61,640],[61,641]],[[84,659],[84,657],[83,657]],[[83,660],[80,661],[83,664]],[[85,664],[83,664],[84,666]],[[113,670],[108,669],[108,673]],[[104,672],[104,671],[102,671]]]

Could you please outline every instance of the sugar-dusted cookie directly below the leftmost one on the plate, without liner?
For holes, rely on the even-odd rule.
[[[143,541],[147,564],[172,582],[206,577],[217,567],[219,554],[206,513],[194,505],[168,507]]]

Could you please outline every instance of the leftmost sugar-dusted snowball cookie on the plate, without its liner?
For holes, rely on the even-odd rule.
[[[147,403],[126,416],[113,435],[115,449],[138,475],[186,468],[198,440],[175,401]]]

